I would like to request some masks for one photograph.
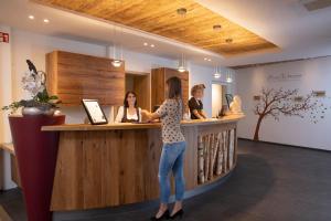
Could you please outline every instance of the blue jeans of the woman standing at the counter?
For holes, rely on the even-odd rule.
[[[168,203],[170,197],[170,172],[172,171],[175,182],[175,200],[182,201],[185,192],[183,171],[185,141],[163,144],[159,165],[159,182],[161,202]]]

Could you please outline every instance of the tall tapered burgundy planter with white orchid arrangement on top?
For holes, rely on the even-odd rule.
[[[9,125],[18,159],[21,187],[29,221],[51,221],[53,180],[55,175],[58,131],[43,131],[43,126],[62,125],[65,115],[54,114],[57,96],[50,96],[45,86],[46,75],[36,71],[26,60],[29,71],[22,78],[23,88],[30,99],[21,99],[2,107],[15,113],[22,107],[22,115],[9,115]],[[56,110],[57,112],[57,110]]]

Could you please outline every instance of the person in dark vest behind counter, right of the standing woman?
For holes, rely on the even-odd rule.
[[[203,110],[203,104],[201,102],[204,93],[204,84],[194,85],[191,88],[191,99],[189,101],[189,108],[191,113],[191,119],[205,119],[206,115]]]

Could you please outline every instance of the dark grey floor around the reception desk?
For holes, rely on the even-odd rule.
[[[330,221],[331,152],[239,140],[238,165],[222,186],[184,202],[185,221]],[[0,193],[15,221],[26,220],[18,189]],[[114,210],[95,221],[148,220],[156,204]],[[79,219],[82,220],[82,219]]]

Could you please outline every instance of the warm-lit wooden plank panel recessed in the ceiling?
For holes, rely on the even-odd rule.
[[[275,44],[193,0],[33,1],[117,22],[225,56],[277,49]],[[186,15],[179,15],[177,13],[179,8],[185,8],[188,10]],[[213,30],[215,24],[222,25],[221,32]],[[226,39],[233,39],[233,42],[226,43]]]

